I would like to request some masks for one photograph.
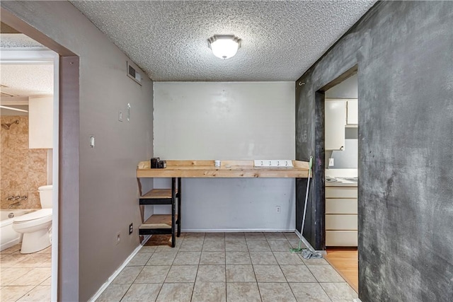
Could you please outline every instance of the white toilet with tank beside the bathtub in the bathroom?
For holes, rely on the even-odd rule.
[[[42,209],[18,216],[13,221],[13,230],[23,233],[22,254],[38,252],[50,246],[52,227],[52,185],[38,187]]]

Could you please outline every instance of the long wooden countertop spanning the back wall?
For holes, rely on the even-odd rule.
[[[137,178],[307,178],[309,163],[292,161],[293,167],[255,167],[253,161],[166,161],[166,168],[151,169],[150,161],[137,166]]]

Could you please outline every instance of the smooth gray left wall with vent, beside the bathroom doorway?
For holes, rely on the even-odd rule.
[[[74,211],[62,214],[60,221],[67,231],[59,234],[59,244],[68,271],[59,274],[59,300],[87,301],[139,245],[135,171],[139,161],[153,154],[152,82],[144,73],[142,86],[127,77],[126,55],[67,1],[1,1],[1,8],[79,56],[79,105],[74,108],[79,110],[79,124],[73,121],[79,131],[72,132],[79,136],[79,146],[74,146],[79,151],[72,153],[79,164],[74,169],[73,158],[60,161],[66,179],[79,175],[73,185],[78,198],[64,195],[74,191],[71,187],[60,192],[62,199],[74,201],[63,210]],[[131,120],[119,122],[118,111],[126,117],[127,103]],[[96,138],[94,148],[91,135]],[[65,139],[71,138],[60,137],[63,146]]]

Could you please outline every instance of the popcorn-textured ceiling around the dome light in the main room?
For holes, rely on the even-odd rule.
[[[154,81],[295,81],[374,2],[71,1]],[[214,34],[242,39],[235,57]]]

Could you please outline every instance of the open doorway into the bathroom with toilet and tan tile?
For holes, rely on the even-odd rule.
[[[12,299],[50,298],[58,259],[59,55],[3,28],[1,209],[14,216],[10,236],[1,232],[2,258],[11,260],[2,262],[10,272],[2,278],[1,291]],[[23,291],[8,291],[10,286]]]

